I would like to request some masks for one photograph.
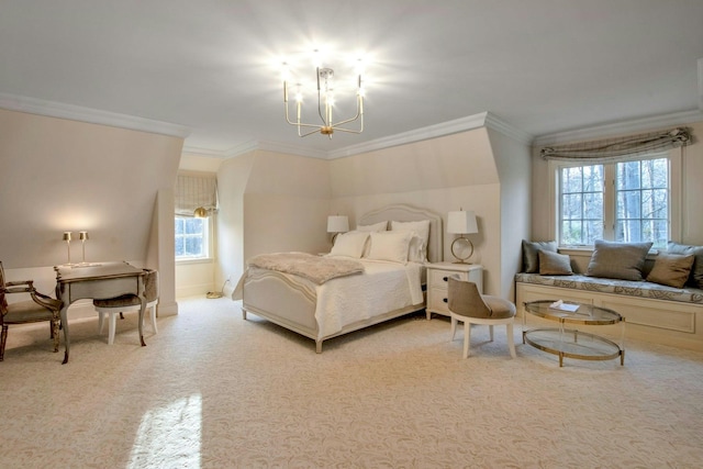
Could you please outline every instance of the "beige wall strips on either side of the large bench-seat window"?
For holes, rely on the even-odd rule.
[[[673,125],[671,125],[673,126]],[[673,238],[681,243],[703,245],[703,216],[701,216],[701,200],[703,200],[703,122],[687,124],[692,130],[693,144],[682,148],[682,187],[681,187],[681,233],[672,233]],[[670,126],[669,126],[670,127]],[[667,129],[669,129],[667,127]],[[652,129],[657,131],[657,129]],[[532,155],[532,239],[554,239],[555,233],[550,220],[551,196],[549,193],[549,174],[547,161],[543,160],[539,152],[543,147],[533,148]],[[587,254],[590,256],[590,254]]]

